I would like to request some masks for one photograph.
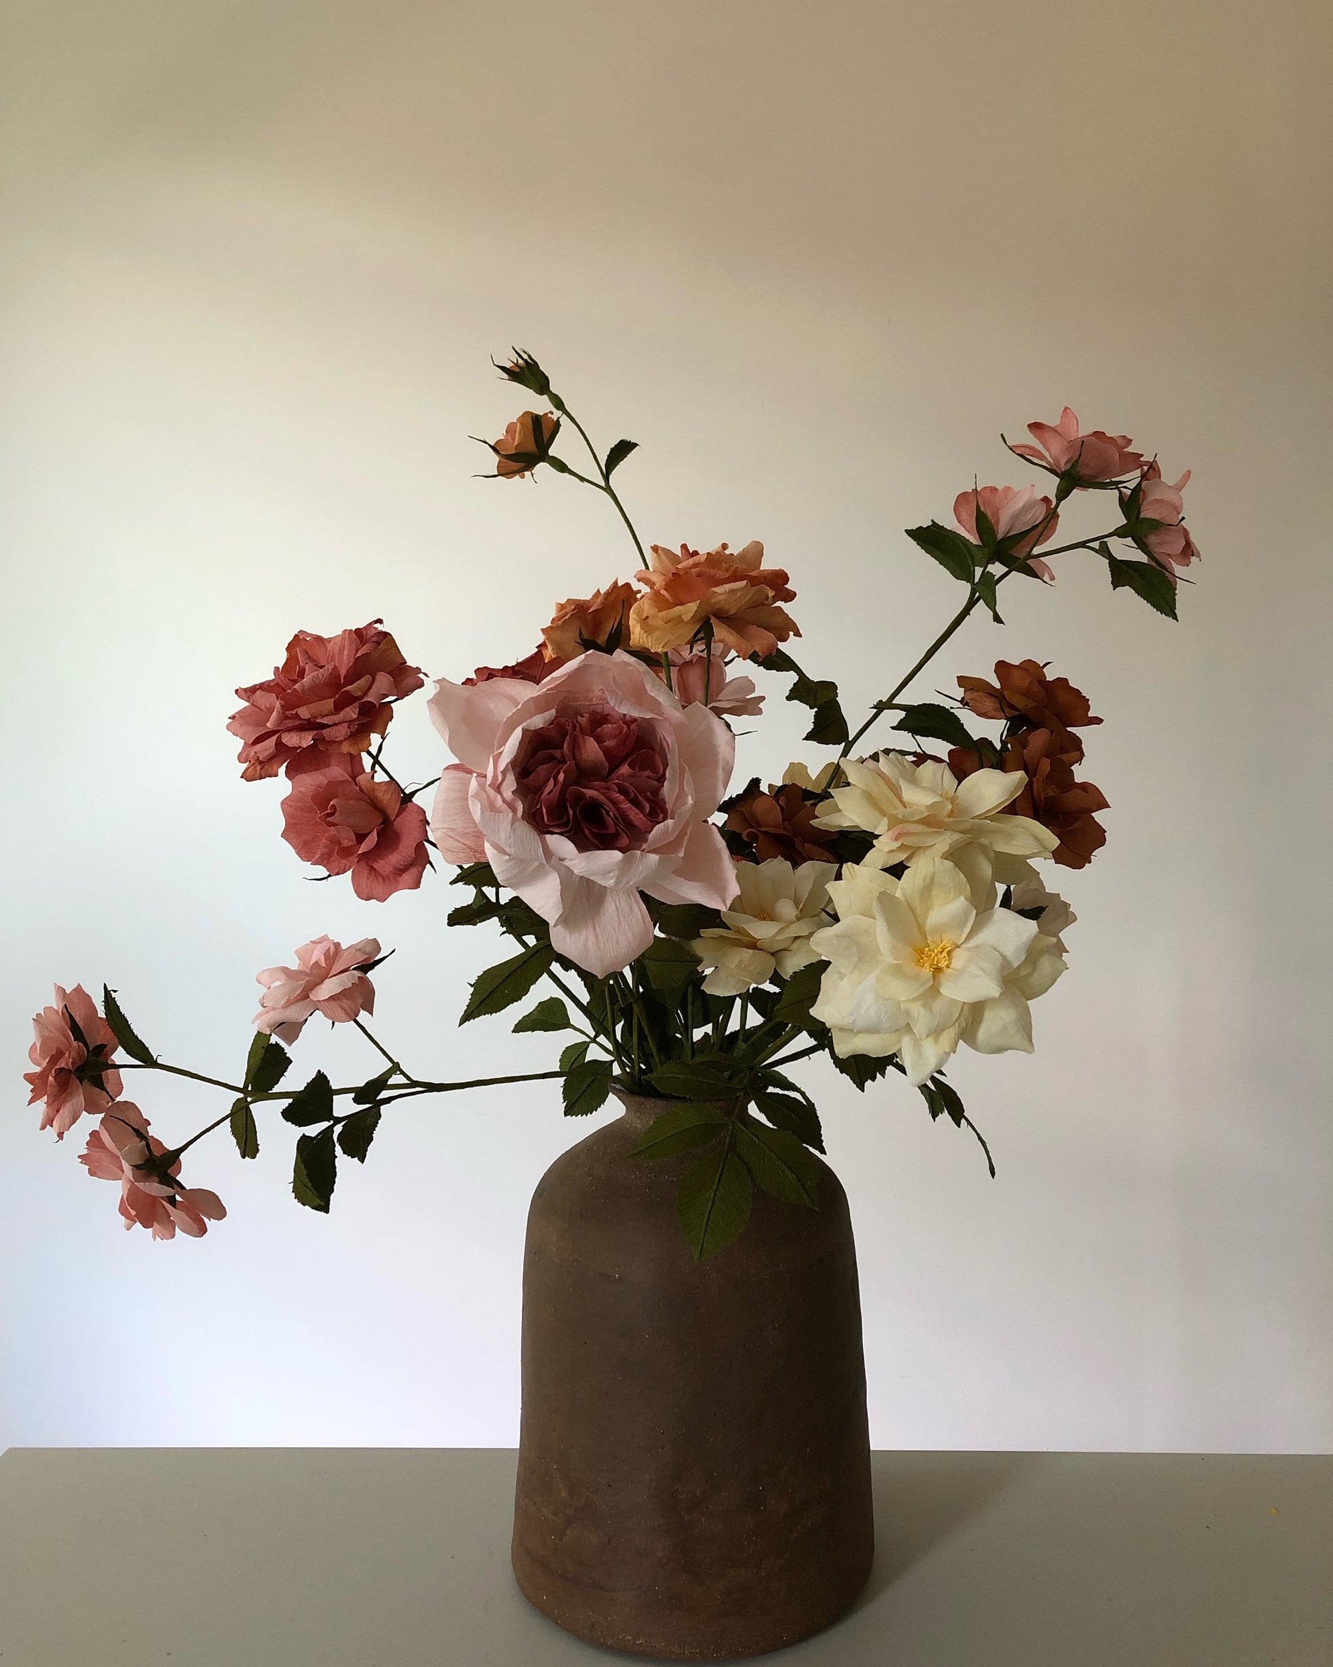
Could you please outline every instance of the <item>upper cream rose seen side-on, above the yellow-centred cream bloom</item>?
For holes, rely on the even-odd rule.
[[[846,787],[831,792],[833,810],[816,818],[825,828],[861,828],[875,835],[875,862],[918,864],[946,857],[971,885],[973,902],[988,909],[993,885],[1033,879],[1028,857],[1048,857],[1060,844],[1030,817],[1000,815],[1026,787],[1021,770],[976,770],[960,782],[946,763],[913,763],[900,752],[843,758]]]

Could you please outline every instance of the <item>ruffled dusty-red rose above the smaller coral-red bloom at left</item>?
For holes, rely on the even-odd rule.
[[[238,688],[245,705],[227,728],[240,735],[242,777],[278,775],[312,752],[365,752],[393,717],[392,700],[422,687],[420,667],[403,660],[382,620],[337,637],[298,630],[287,658],[263,683]]]

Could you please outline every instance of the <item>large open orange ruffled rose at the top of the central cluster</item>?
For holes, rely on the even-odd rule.
[[[796,592],[783,568],[763,565],[758,540],[743,550],[720,543],[701,555],[688,545],[675,552],[655,543],[652,567],[637,578],[648,588],[630,613],[635,648],[653,653],[680,648],[705,620],[713,622],[716,640],[743,660],[751,655],[761,660],[780,642],[800,637],[791,615],[776,607]]]

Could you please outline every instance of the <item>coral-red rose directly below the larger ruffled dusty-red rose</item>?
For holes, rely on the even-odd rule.
[[[382,904],[422,884],[430,860],[427,813],[405,803],[393,782],[368,775],[360,758],[330,758],[327,768],[297,775],[282,815],[282,837],[302,862],[350,874],[365,902]]]

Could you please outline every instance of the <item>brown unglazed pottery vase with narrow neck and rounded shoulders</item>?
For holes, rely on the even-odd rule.
[[[693,1160],[632,1159],[663,1100],[560,1157],[528,1214],[513,1570],[562,1627],[668,1660],[761,1655],[855,1600],[875,1549],[846,1195],[755,1190],[696,1264]]]

